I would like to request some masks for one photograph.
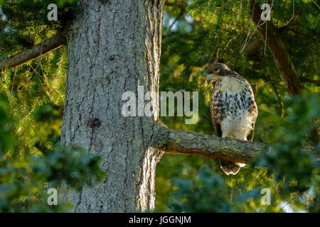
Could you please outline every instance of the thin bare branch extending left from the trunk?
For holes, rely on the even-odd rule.
[[[57,35],[54,35],[52,38],[43,41],[43,43],[35,45],[31,48],[23,50],[22,52],[19,52],[16,55],[1,60],[0,71],[4,70],[6,67],[16,67],[25,62],[33,60],[36,57],[46,54],[51,50],[60,48],[62,45],[65,45],[65,37],[66,35],[64,32],[58,33]]]

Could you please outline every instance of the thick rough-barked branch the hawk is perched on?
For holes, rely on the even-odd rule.
[[[156,124],[156,128],[157,130],[153,137],[154,147],[164,150],[166,153],[198,155],[248,163],[250,160],[263,155],[265,150],[270,148],[263,143],[221,138],[191,131],[176,131],[166,128],[162,123]],[[312,148],[302,149],[308,153],[312,150]],[[314,161],[320,161],[319,155],[314,153],[312,155]]]

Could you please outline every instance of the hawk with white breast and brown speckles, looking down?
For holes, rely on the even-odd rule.
[[[250,84],[223,63],[213,63],[207,70],[206,84],[213,83],[210,111],[215,133],[220,137],[239,140],[247,138],[255,129],[257,104]],[[226,175],[236,175],[243,163],[221,160],[221,169]]]

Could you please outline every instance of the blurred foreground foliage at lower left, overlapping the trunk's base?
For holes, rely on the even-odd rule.
[[[56,145],[46,156],[28,156],[24,161],[8,157],[6,151],[16,146],[11,136],[15,121],[6,114],[9,104],[2,93],[0,103],[0,212],[69,211],[72,204],[63,201],[48,206],[49,188],[63,192],[64,183],[80,190],[83,184],[91,186],[105,178],[100,157],[92,157],[81,148]]]

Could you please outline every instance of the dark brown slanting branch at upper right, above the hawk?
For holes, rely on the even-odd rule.
[[[290,59],[289,53],[284,47],[282,38],[277,34],[277,30],[271,22],[266,21],[266,23],[261,25],[261,23],[264,22],[261,21],[261,13],[262,10],[260,9],[260,6],[255,1],[252,1],[250,16],[252,16],[255,25],[260,25],[258,26],[257,31],[259,31],[264,40],[267,39],[267,46],[289,94],[302,94],[302,84],[297,76],[297,72],[294,70],[294,65]]]

